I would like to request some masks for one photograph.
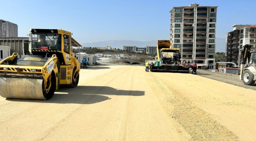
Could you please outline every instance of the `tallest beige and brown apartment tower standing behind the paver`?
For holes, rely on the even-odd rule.
[[[183,63],[214,68],[217,6],[173,7],[171,46],[180,48]]]

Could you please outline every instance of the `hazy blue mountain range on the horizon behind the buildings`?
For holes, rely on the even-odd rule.
[[[225,38],[216,38],[216,49],[215,52],[225,52]],[[109,40],[109,41],[100,41],[92,43],[83,43],[83,47],[106,47],[111,46],[116,49],[123,49],[123,46],[136,46],[136,47],[146,47],[146,46],[156,46],[157,40],[141,42],[133,40]]]

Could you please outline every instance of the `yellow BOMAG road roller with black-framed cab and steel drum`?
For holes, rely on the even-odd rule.
[[[70,32],[31,29],[29,52],[14,52],[0,61],[2,97],[48,100],[60,86],[78,85],[80,63],[71,55]]]

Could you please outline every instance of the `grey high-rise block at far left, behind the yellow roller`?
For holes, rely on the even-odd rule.
[[[18,25],[0,20],[0,38],[18,37]]]

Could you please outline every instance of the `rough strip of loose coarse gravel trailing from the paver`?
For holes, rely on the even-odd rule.
[[[173,89],[171,84],[167,84],[165,81],[161,80],[154,73],[151,73],[152,77],[155,78],[158,87],[161,87],[162,92],[167,94],[167,99],[175,107],[172,115],[169,117],[174,118],[180,125],[182,125],[186,131],[191,135],[192,140],[198,141],[238,141],[239,138],[231,131],[229,131],[223,125],[217,123],[208,116],[204,110],[192,106],[189,104],[188,99],[182,98],[180,96],[180,91]],[[163,78],[170,78],[163,73]],[[180,81],[180,80],[178,80]]]

